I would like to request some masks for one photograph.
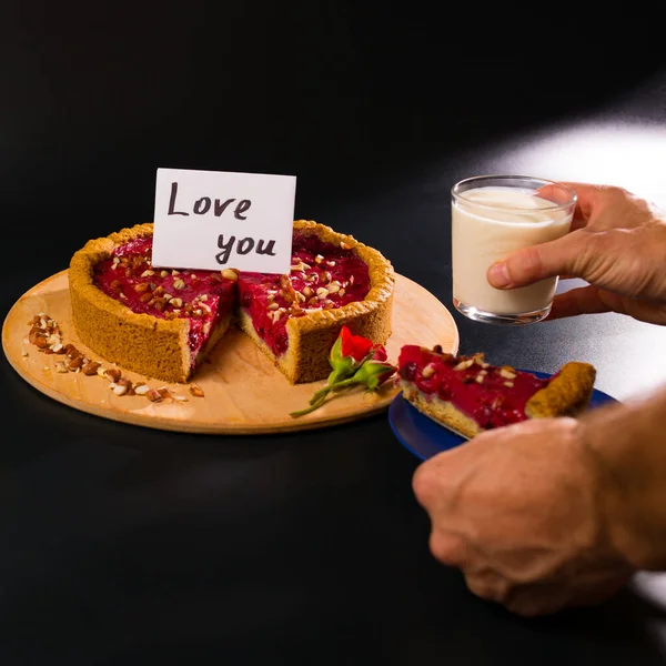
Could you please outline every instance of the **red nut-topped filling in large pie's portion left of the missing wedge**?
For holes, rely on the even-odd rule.
[[[152,238],[119,245],[94,268],[94,284],[138,314],[190,320],[192,365],[235,301],[234,283],[211,271],[152,266]]]

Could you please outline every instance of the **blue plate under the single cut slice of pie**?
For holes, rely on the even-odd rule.
[[[527,371],[537,377],[547,379],[551,375],[544,372]],[[594,390],[589,401],[589,408],[603,404],[617,402],[606,393]],[[437,453],[454,448],[464,444],[467,440],[446,430],[435,423],[432,418],[424,416],[416,407],[413,407],[398,393],[389,408],[389,423],[393,434],[398,442],[417,458],[425,461]]]

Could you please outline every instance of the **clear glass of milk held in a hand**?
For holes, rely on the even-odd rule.
[[[514,250],[568,233],[576,193],[527,175],[480,175],[452,191],[453,304],[465,316],[492,324],[529,324],[551,312],[557,278],[498,290],[488,266]]]

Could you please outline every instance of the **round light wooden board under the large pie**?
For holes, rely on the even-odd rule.
[[[357,387],[330,398],[311,414],[293,418],[290,412],[307,406],[314,391],[325,381],[291,385],[246,335],[232,329],[196,373],[195,383],[204,397],[192,396],[182,384],[167,385],[173,394],[186,397],[186,402],[152,403],[140,395],[118,396],[102,377],[57,372],[56,362],[63,356],[43,354],[28,343],[28,322],[40,312],[58,323],[63,343],[71,342],[88,357],[103,363],[73,331],[68,272],[62,271],[23,294],[7,315],[2,347],[10,364],[49,397],[104,418],[189,433],[268,434],[362,418],[385,410],[397,392],[393,385],[375,394],[365,394]],[[456,353],[458,331],[448,310],[433,294],[396,275],[393,334],[386,344],[391,362],[396,362],[403,344],[441,344],[444,351]],[[165,385],[132,372],[123,371],[123,376],[133,382],[144,381],[154,389]]]

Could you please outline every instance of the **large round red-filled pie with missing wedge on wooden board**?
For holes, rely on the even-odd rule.
[[[394,272],[377,251],[294,222],[290,275],[153,266],[152,223],[89,241],[70,262],[72,322],[107,361],[186,382],[238,323],[292,383],[324,379],[342,325],[384,344]]]

